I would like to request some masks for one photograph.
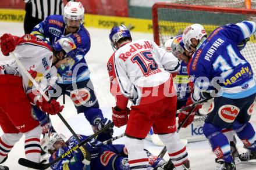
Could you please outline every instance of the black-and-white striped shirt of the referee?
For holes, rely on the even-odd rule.
[[[24,0],[26,12],[37,19],[45,19],[49,15],[63,15],[62,0]]]

